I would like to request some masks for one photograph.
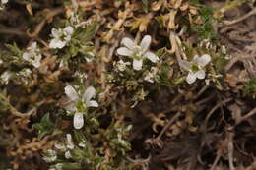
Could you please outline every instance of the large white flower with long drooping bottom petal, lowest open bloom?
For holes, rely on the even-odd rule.
[[[82,97],[80,97],[74,87],[68,85],[65,87],[65,93],[70,99],[70,103],[66,106],[66,110],[76,112],[73,124],[76,129],[81,129],[84,126],[84,116],[83,111],[78,109],[77,106],[82,101],[85,109],[89,107],[98,107],[98,103],[95,100],[92,100],[92,98],[96,96],[96,89],[93,86],[89,86],[82,94]]]

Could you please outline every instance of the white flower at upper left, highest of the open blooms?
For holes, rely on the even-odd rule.
[[[74,32],[74,28],[68,26],[66,28],[52,28],[51,35],[53,39],[51,39],[49,47],[50,48],[63,48],[70,40],[71,36]]]

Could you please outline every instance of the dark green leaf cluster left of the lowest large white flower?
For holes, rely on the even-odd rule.
[[[32,129],[36,129],[38,131],[38,138],[43,138],[46,134],[53,132],[54,124],[50,121],[49,113],[46,113],[42,118],[40,123],[36,123],[32,125]]]

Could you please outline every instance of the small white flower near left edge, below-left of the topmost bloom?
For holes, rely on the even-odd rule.
[[[30,62],[35,68],[40,67],[41,54],[37,48],[37,43],[32,42],[32,45],[27,50],[27,52],[23,53],[23,59]]]

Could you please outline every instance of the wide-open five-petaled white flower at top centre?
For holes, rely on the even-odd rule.
[[[133,69],[141,70],[143,60],[149,59],[153,63],[157,63],[159,57],[154,53],[148,51],[151,44],[151,36],[146,35],[143,37],[140,45],[133,42],[131,39],[125,37],[122,39],[121,44],[125,47],[117,49],[117,54],[122,56],[128,56],[133,59]]]

